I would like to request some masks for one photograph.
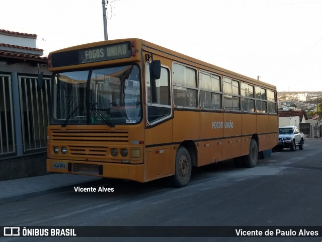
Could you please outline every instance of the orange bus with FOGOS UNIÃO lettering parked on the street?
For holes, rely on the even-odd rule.
[[[252,168],[278,141],[276,87],[141,39],[51,52],[47,171],[188,184],[192,167]]]

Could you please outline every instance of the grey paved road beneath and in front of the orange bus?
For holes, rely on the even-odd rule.
[[[0,192],[0,224],[5,226],[152,225],[152,226],[322,226],[322,140],[306,140],[303,150],[284,149],[253,169],[230,160],[193,171],[187,187],[165,180],[147,184],[114,183],[86,177],[63,186],[61,175],[25,179],[27,188],[50,190]],[[68,175],[72,177],[78,177]],[[48,182],[48,179],[51,181]],[[41,180],[43,179],[43,180]],[[59,179],[59,180],[58,180]],[[66,179],[68,180],[68,179]],[[30,182],[32,181],[31,185]],[[0,182],[2,188],[15,181]],[[18,185],[17,185],[18,184]],[[16,181],[18,189],[19,181]],[[41,186],[40,186],[41,187]],[[96,192],[75,192],[75,188]],[[98,192],[113,188],[113,192]],[[21,187],[20,187],[21,189]],[[6,190],[6,189],[5,189]],[[27,189],[28,190],[28,189]],[[9,192],[8,192],[9,193]],[[321,237],[158,237],[158,238],[0,238],[2,241],[322,241]]]

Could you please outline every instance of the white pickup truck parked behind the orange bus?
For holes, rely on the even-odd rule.
[[[278,145],[275,146],[278,150],[290,148],[294,151],[298,146],[299,149],[304,148],[304,134],[300,133],[295,126],[285,126],[278,128]]]

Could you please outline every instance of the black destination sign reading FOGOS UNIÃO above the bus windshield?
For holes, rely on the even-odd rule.
[[[68,66],[128,58],[132,55],[131,42],[101,45],[97,47],[53,53],[51,66]]]

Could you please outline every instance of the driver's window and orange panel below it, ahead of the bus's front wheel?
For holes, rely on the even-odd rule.
[[[153,69],[154,61],[144,64],[145,76],[145,181],[174,173],[173,119],[171,108],[170,68],[161,65],[160,75]],[[161,62],[162,64],[162,62]]]

